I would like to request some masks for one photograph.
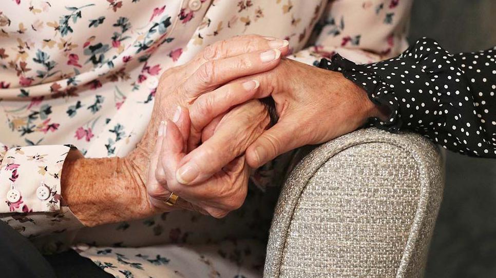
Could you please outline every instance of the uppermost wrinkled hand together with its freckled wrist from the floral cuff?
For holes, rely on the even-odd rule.
[[[219,41],[189,63],[167,70],[157,88],[147,131],[134,151],[124,158],[75,157],[66,160],[62,195],[72,212],[83,224],[96,226],[140,219],[176,207],[195,209],[184,201],[175,207],[159,207],[155,205],[158,201],[148,195],[161,197],[155,194],[160,183],[151,167],[158,162],[158,155],[154,155],[153,150],[160,122],[175,118],[175,113],[179,117],[178,107],[189,108],[197,99],[213,101],[216,108],[206,113],[202,110],[200,114],[204,117],[198,120],[215,119],[231,106],[253,98],[258,87],[258,82],[253,80],[226,82],[273,69],[281,54],[287,52],[287,41],[256,35],[239,36]],[[102,184],[105,184],[104,190],[100,187]]]

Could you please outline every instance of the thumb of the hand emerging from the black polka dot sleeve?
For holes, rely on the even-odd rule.
[[[246,162],[258,168],[280,154],[304,145],[302,137],[295,136],[297,128],[289,121],[280,121],[266,130],[246,149]]]

